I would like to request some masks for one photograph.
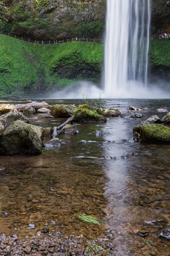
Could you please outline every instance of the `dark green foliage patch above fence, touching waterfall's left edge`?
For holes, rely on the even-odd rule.
[[[75,36],[78,38],[102,38],[104,31],[105,24],[102,22],[80,23],[75,29]]]

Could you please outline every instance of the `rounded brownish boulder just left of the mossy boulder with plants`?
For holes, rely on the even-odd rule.
[[[51,110],[51,115],[54,117],[71,117],[76,109],[74,105],[55,105]]]

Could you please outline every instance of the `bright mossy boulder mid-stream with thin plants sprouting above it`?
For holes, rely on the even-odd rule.
[[[106,122],[107,119],[97,113],[97,111],[91,111],[88,108],[78,108],[74,111],[74,118],[76,122]]]

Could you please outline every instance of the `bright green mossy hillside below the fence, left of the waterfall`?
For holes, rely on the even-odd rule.
[[[99,81],[102,60],[102,44],[40,45],[0,35],[0,97],[39,96],[81,79]]]

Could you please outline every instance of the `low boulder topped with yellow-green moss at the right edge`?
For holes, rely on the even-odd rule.
[[[152,143],[170,143],[170,128],[164,125],[142,125],[140,138]]]

